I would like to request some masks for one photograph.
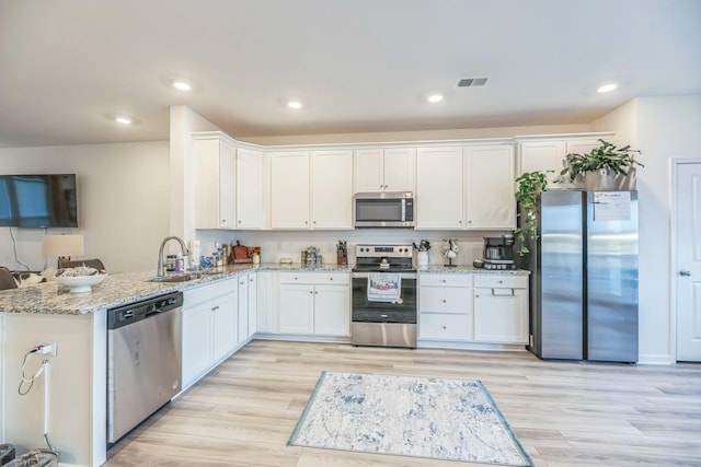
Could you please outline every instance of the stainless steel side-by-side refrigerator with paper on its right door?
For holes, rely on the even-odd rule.
[[[637,192],[551,190],[539,205],[539,238],[519,265],[531,271],[528,349],[636,362]]]

